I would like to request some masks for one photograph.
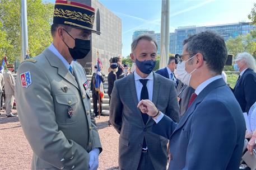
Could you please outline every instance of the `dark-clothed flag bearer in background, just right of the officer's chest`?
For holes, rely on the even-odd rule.
[[[97,65],[94,66],[94,74],[92,74],[92,78],[91,78],[91,91],[92,91],[92,102],[93,102],[93,107],[94,107],[94,114],[95,114],[95,117],[98,117],[99,114],[101,114],[101,112],[102,112],[102,103],[103,103],[103,101],[100,100],[100,102],[99,102],[99,91],[97,91],[96,88],[95,88],[95,83],[96,83],[95,77],[96,77],[96,75],[100,75],[101,82],[103,82],[103,83],[105,82],[104,81],[104,74],[101,73],[101,72],[97,72]],[[99,106],[100,110],[97,106],[98,103],[100,105]]]

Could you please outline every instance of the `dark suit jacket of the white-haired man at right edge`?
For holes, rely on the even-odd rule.
[[[243,112],[249,112],[256,101],[256,73],[246,69],[234,87],[234,95]]]

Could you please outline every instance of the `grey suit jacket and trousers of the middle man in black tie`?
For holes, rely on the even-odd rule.
[[[152,102],[160,111],[179,121],[179,107],[174,82],[153,73]],[[119,166],[122,170],[137,169],[145,138],[153,167],[166,169],[167,139],[152,133],[154,121],[149,117],[145,125],[137,108],[138,98],[134,73],[115,81],[111,93],[109,119],[119,136]]]

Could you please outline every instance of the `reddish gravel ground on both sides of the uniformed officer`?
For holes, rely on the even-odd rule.
[[[15,112],[15,110],[13,110]],[[18,117],[7,118],[0,112],[0,169],[31,169],[32,150],[21,128]],[[118,133],[108,126],[107,116],[96,118],[103,152],[100,154],[99,170],[118,169]]]

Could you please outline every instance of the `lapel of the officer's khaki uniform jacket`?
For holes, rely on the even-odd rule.
[[[52,67],[58,68],[58,74],[66,79],[69,83],[73,84],[76,88],[78,88],[77,82],[73,75],[68,71],[67,68],[65,68],[65,65],[62,63],[62,61],[56,56],[54,53],[52,53],[51,50],[46,48],[43,53],[46,56],[46,59],[52,65]],[[79,88],[78,88],[79,89]]]

